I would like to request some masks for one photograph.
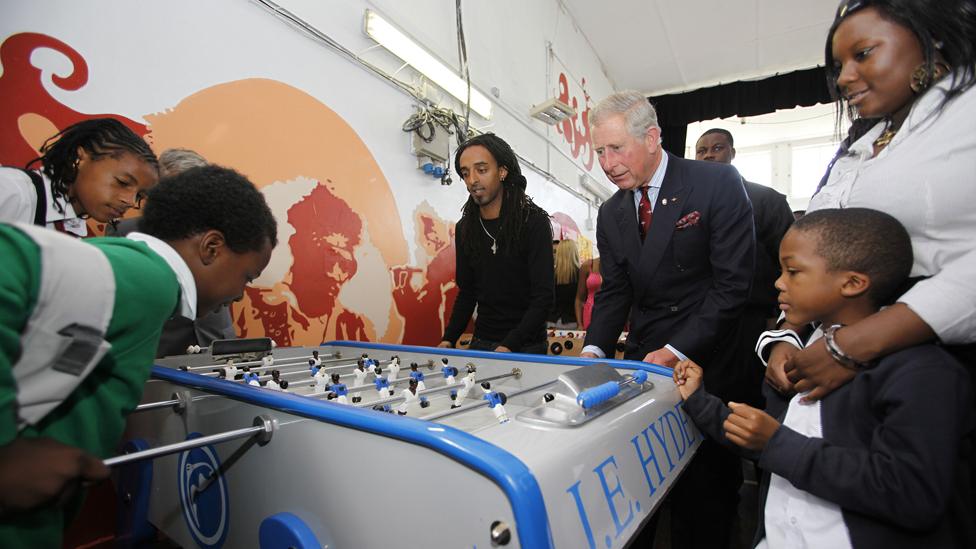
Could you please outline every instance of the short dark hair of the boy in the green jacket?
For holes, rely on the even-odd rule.
[[[236,253],[278,244],[264,195],[230,168],[207,165],[167,177],[149,191],[140,230],[168,242],[215,229]]]

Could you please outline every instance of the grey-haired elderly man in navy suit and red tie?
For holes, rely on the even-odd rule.
[[[581,356],[613,356],[629,320],[625,358],[692,359],[709,391],[739,398],[752,378],[737,371],[734,334],[756,241],[738,172],[664,152],[657,113],[640,93],[611,95],[589,120],[600,167],[619,190],[597,218],[603,285]],[[672,546],[728,547],[741,482],[738,458],[703,442],[672,491]]]

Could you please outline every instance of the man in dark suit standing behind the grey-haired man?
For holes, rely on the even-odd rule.
[[[695,159],[731,164],[735,158],[735,139],[722,128],[712,128],[695,143]],[[767,329],[769,319],[779,315],[779,290],[773,284],[779,278],[779,243],[793,225],[793,211],[786,196],[775,189],[742,180],[752,202],[756,226],[756,273],[752,291],[739,321],[738,351],[743,369],[751,380],[745,402],[764,406],[761,389],[766,366],[756,354],[756,340]],[[785,408],[784,408],[785,409]]]

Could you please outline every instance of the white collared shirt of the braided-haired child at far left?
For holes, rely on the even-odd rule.
[[[58,210],[54,193],[51,191],[51,180],[44,172],[36,171],[44,180],[44,197],[47,202],[45,227],[54,229],[55,223],[62,222],[64,231],[75,236],[88,236],[88,225],[84,219],[78,217],[71,203],[60,201],[64,212]],[[34,212],[37,209],[37,191],[30,176],[17,168],[0,168],[0,221],[13,223],[34,223]]]

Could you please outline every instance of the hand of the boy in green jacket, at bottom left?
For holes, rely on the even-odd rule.
[[[82,483],[108,478],[102,460],[50,438],[0,446],[0,515],[65,503]]]

